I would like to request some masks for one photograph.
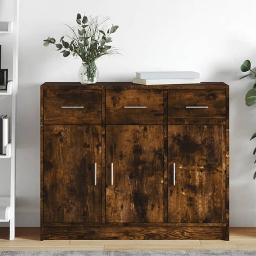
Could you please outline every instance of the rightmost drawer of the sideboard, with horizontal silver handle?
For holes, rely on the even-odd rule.
[[[226,90],[224,89],[168,90],[169,124],[177,122],[177,119],[183,119],[177,123],[222,123],[225,118]]]

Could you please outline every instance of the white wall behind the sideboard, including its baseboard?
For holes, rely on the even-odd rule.
[[[10,20],[0,0],[0,20]],[[109,16],[119,25],[113,35],[122,55],[97,61],[99,81],[131,81],[135,71],[191,70],[202,81],[230,85],[230,225],[256,226],[255,107],[244,95],[253,80],[244,79],[240,66],[250,59],[256,66],[256,1],[247,0],[20,0],[19,93],[17,125],[17,225],[40,225],[40,84],[78,81],[81,61],[63,58],[54,47],[43,47],[47,36],[57,39],[75,26],[76,13]],[[11,46],[0,36],[2,67],[10,68]],[[7,105],[7,106],[6,106]],[[7,97],[0,112],[10,111]],[[8,177],[9,160],[0,172]],[[0,194],[8,185],[0,178]]]

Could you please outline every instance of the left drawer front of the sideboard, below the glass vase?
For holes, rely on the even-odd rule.
[[[44,124],[101,124],[101,90],[44,90]]]

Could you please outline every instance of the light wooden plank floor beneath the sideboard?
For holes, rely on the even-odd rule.
[[[230,228],[222,240],[44,240],[39,228],[0,228],[0,250],[256,250],[256,228]]]

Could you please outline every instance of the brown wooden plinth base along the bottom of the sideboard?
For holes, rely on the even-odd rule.
[[[84,226],[44,226],[41,240],[44,239],[95,239],[95,240],[168,240],[168,239],[222,239],[229,240],[229,227],[224,226],[171,226],[159,225],[120,225],[88,224]]]

